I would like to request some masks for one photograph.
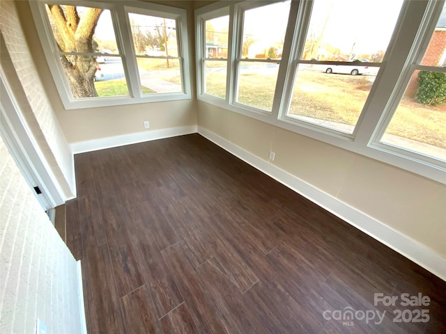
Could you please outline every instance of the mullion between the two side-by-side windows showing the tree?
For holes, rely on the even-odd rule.
[[[116,16],[114,16],[116,15]],[[123,54],[123,63],[125,78],[127,79],[128,90],[130,96],[141,98],[141,85],[139,84],[139,72],[137,67],[137,58],[133,51],[133,37],[130,30],[130,22],[128,13],[123,6],[119,6],[112,15],[116,42],[120,51]]]

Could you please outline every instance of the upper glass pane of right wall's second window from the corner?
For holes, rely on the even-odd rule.
[[[291,1],[245,11],[242,58],[282,58]]]

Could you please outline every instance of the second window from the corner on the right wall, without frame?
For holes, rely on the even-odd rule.
[[[290,3],[284,1],[247,9],[240,6],[243,31],[236,58],[235,102],[262,111],[272,110]]]

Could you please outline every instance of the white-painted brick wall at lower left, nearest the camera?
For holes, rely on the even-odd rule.
[[[0,137],[0,333],[79,334],[75,258]]]

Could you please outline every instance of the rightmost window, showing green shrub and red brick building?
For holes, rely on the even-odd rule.
[[[399,86],[380,143],[397,152],[401,148],[405,154],[423,154],[427,161],[446,161],[446,5],[437,3],[431,14],[426,23],[435,24],[431,29],[426,26],[424,38],[429,43],[415,46],[414,61]]]

